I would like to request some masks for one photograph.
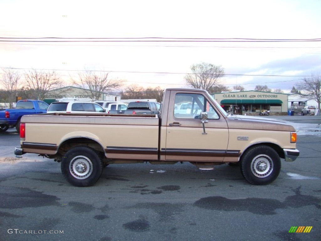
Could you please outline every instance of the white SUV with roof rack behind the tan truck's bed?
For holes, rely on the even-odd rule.
[[[93,113],[106,112],[95,100],[82,98],[63,98],[49,105],[47,113]]]

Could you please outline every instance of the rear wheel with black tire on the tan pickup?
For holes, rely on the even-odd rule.
[[[79,146],[67,151],[61,162],[61,172],[70,184],[88,187],[98,181],[102,166],[100,157],[93,149]]]

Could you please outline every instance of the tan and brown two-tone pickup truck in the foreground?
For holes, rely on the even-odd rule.
[[[188,103],[189,108],[179,108]],[[97,182],[108,164],[175,164],[200,169],[240,165],[252,184],[273,182],[281,158],[299,156],[293,126],[262,117],[228,115],[204,90],[166,89],[160,115],[51,113],[21,119],[16,157],[37,153],[61,162],[75,186]]]

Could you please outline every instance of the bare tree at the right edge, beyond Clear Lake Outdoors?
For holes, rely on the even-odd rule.
[[[299,95],[315,100],[318,103],[318,114],[320,115],[321,102],[321,78],[319,75],[311,75],[310,78],[304,78],[301,82],[296,84],[299,90]]]

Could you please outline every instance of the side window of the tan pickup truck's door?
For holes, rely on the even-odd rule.
[[[175,95],[175,118],[198,119],[201,112],[207,112],[208,119],[219,119],[219,115],[204,95],[187,93]]]

